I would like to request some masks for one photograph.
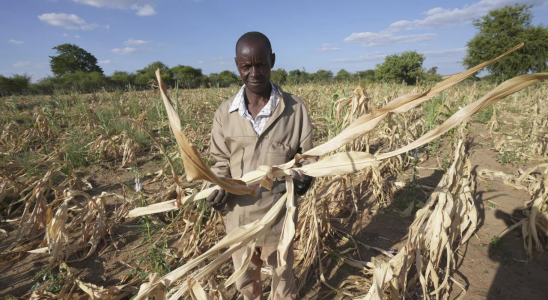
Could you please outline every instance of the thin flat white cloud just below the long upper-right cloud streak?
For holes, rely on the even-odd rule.
[[[354,32],[349,37],[345,38],[345,42],[354,42],[361,44],[364,47],[373,47],[380,45],[416,43],[433,39],[435,33],[421,33],[409,35],[395,35],[391,32]]]

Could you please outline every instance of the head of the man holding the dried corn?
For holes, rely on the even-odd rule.
[[[255,94],[270,88],[270,70],[276,55],[268,38],[256,31],[248,32],[236,43],[236,67],[246,87]]]

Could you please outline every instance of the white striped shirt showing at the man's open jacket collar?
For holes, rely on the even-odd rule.
[[[236,94],[234,100],[232,101],[232,104],[230,105],[230,108],[228,109],[229,113],[233,111],[238,111],[242,118],[249,120],[249,122],[251,122],[253,130],[255,130],[257,135],[261,135],[261,133],[263,132],[266,122],[268,122],[268,119],[272,115],[274,109],[276,109],[278,101],[280,100],[280,95],[277,92],[276,86],[272,83],[270,84],[272,85],[270,99],[268,100],[268,103],[266,103],[266,105],[263,107],[263,109],[261,109],[259,114],[257,114],[257,117],[255,119],[253,119],[251,113],[247,109],[247,105],[245,104],[245,85],[242,86],[238,94]]]

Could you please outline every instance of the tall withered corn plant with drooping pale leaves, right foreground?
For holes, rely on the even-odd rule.
[[[474,204],[475,179],[462,140],[454,161],[409,227],[407,243],[388,261],[373,258],[365,265],[372,286],[359,299],[448,299],[455,252],[474,233],[478,212]]]

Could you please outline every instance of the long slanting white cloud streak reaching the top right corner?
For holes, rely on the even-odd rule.
[[[516,2],[526,5],[548,3],[547,0],[481,0],[471,5],[465,5],[462,8],[445,9],[435,7],[423,12],[423,14],[427,15],[426,18],[416,19],[413,21],[397,21],[390,24],[387,31],[400,32],[402,30],[441,28],[457,24],[471,23],[474,19],[486,15],[490,10],[501,8],[505,5],[514,5]]]

